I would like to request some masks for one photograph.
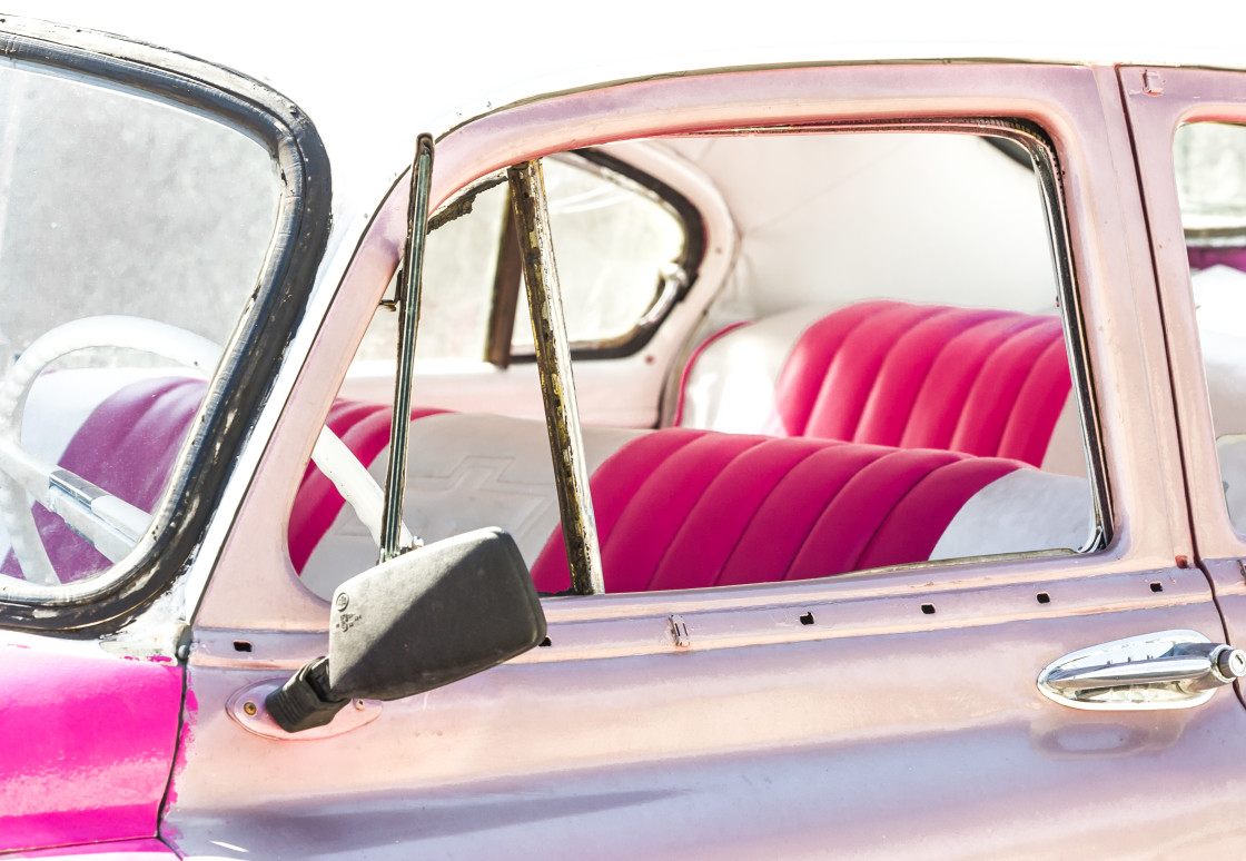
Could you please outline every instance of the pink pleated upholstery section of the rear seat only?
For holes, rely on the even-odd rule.
[[[766,430],[779,436],[946,449],[1038,466],[1070,388],[1057,316],[880,299],[805,329],[774,402],[758,409],[774,410]]]

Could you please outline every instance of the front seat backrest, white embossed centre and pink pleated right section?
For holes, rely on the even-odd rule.
[[[1075,548],[1087,535],[1085,481],[1017,461],[692,429],[584,427],[583,437],[609,592]],[[379,477],[384,467],[381,452],[370,469]],[[568,588],[542,421],[459,412],[414,421],[404,518],[429,542],[501,527],[538,589]],[[303,582],[329,596],[375,552],[341,510]]]

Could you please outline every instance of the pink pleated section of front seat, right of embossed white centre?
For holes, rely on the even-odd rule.
[[[827,577],[930,558],[964,502],[1017,461],[668,429],[591,480],[607,592]],[[562,531],[532,567],[569,587]]]

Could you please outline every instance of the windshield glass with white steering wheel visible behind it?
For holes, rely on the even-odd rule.
[[[0,69],[0,573],[55,587],[147,528],[257,288],[278,173],[206,115],[39,66]]]

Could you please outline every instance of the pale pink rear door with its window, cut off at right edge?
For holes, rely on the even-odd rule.
[[[1234,159],[1246,85],[1239,72],[1141,66],[1123,67],[1120,80],[1155,247],[1194,538],[1230,635],[1240,635],[1246,545],[1241,511],[1230,511],[1241,487],[1235,455],[1246,401],[1235,379],[1241,318],[1225,303],[1241,267]]]

